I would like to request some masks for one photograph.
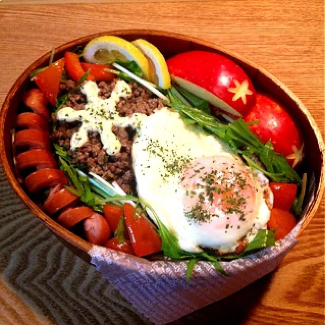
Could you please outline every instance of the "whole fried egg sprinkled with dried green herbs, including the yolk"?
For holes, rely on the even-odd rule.
[[[268,180],[177,112],[163,108],[144,119],[132,156],[139,198],[188,252],[233,252],[270,218]]]

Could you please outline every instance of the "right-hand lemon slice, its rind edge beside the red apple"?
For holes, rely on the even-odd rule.
[[[163,54],[151,43],[138,39],[132,42],[149,62],[149,79],[160,88],[171,88],[171,76]]]

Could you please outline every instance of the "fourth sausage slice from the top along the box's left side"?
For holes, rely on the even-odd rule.
[[[25,169],[29,167],[57,168],[56,160],[51,152],[44,149],[31,149],[20,153],[17,156],[17,168]]]

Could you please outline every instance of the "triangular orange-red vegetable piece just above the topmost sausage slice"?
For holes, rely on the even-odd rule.
[[[53,106],[55,106],[57,94],[59,92],[63,66],[64,59],[61,58],[34,77],[34,81]]]

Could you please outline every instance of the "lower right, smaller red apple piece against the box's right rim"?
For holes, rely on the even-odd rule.
[[[255,120],[259,123],[249,125],[250,130],[263,143],[271,139],[276,152],[287,157],[301,147],[300,134],[294,120],[283,106],[264,94],[256,94],[256,105],[245,117],[245,122]],[[293,159],[287,160],[294,163]]]

